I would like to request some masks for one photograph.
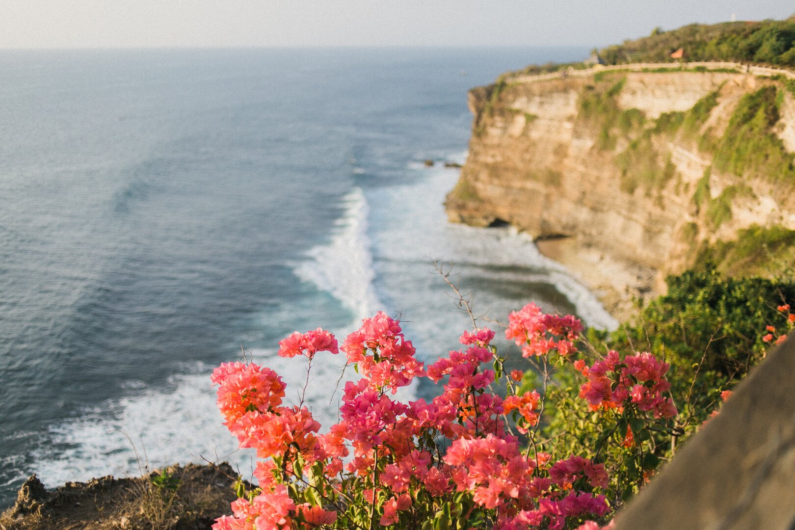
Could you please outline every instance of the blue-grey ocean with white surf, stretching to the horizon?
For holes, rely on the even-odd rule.
[[[206,458],[250,474],[211,370],[245,354],[294,400],[304,365],[277,342],[342,338],[378,310],[432,362],[468,327],[434,260],[479,314],[532,300],[615,326],[525,234],[442,207],[467,90],[587,53],[0,51],[0,506],[33,473],[54,487]],[[308,385],[327,427],[342,364],[319,357]]]

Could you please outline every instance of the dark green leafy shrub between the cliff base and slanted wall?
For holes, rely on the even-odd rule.
[[[591,331],[617,350],[647,350],[671,365],[671,392],[680,415],[677,443],[691,435],[718,404],[719,393],[745,377],[766,353],[767,326],[791,323],[795,300],[790,279],[726,277],[707,262],[702,269],[668,277],[668,293],[642,309],[634,323],[611,334]],[[682,399],[684,398],[684,399]]]

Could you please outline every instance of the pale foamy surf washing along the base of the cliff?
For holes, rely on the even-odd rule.
[[[458,171],[438,166],[409,167],[409,171],[426,172],[427,176],[413,184],[371,192],[372,203],[387,205],[371,215],[379,279],[390,283],[390,274],[398,271],[417,277],[423,271],[432,272],[431,261],[440,259],[454,263],[463,276],[552,285],[574,305],[576,313],[589,326],[617,327],[617,321],[588,288],[568,274],[562,265],[543,256],[527,234],[511,227],[484,230],[448,223],[441,198],[456,184]],[[410,269],[417,270],[411,273]],[[429,293],[422,289],[415,287],[411,296],[405,296],[399,292],[400,281],[391,283],[393,287],[385,291],[391,298],[402,300],[398,310],[417,308],[419,304],[410,302],[412,297],[421,304],[429,303]],[[442,285],[440,281],[436,283]],[[498,296],[492,296],[490,304],[504,308],[505,304],[500,302],[506,300],[496,298]],[[532,299],[532,293],[528,292],[527,298],[528,301]],[[505,318],[504,315],[491,316]]]

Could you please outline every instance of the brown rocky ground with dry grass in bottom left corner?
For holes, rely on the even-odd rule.
[[[138,478],[67,482],[52,491],[36,475],[0,515],[2,530],[204,530],[230,513],[235,471],[220,466],[170,466]]]

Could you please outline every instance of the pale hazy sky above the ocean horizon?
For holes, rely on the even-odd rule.
[[[585,45],[792,0],[0,0],[0,48]]]

